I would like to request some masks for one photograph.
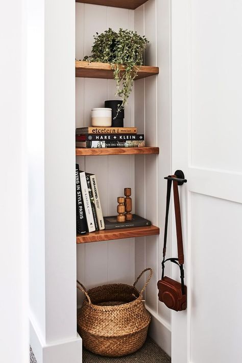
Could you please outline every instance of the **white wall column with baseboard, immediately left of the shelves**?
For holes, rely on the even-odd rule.
[[[27,70],[31,346],[78,362],[74,2],[29,1]]]

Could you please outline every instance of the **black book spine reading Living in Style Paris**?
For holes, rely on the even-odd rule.
[[[82,190],[79,174],[79,165],[76,164],[76,217],[77,217],[77,233],[85,234],[86,228],[86,213],[83,205]]]

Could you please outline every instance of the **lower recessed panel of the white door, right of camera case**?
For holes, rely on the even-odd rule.
[[[191,193],[191,210],[191,362],[239,362],[241,205]]]

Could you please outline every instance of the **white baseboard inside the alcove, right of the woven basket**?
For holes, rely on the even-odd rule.
[[[171,325],[167,324],[156,312],[146,306],[151,314],[151,324],[148,334],[170,357],[172,355],[172,331]]]

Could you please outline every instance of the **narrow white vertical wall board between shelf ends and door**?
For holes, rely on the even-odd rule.
[[[157,146],[161,153],[158,158],[158,278],[161,277],[161,260],[164,236],[166,181],[164,176],[171,170],[171,51],[170,51],[170,0],[157,1],[157,64],[162,71],[157,77]],[[171,221],[169,222],[171,223]],[[171,224],[170,224],[171,225]],[[171,228],[168,228],[166,255],[171,257]],[[165,274],[171,276],[171,263],[166,263]],[[167,323],[171,322],[171,310],[158,302],[158,314]]]

